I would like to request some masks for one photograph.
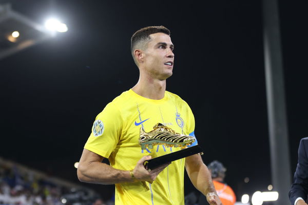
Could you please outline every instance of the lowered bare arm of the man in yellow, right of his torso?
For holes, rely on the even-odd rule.
[[[206,196],[209,204],[221,205],[221,201],[211,180],[211,175],[204,165],[200,154],[186,157],[185,168],[192,184]]]

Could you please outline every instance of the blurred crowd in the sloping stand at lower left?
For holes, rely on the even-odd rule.
[[[106,205],[93,191],[60,185],[36,173],[0,158],[0,205]]]

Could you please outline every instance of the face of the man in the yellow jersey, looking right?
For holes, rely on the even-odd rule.
[[[153,78],[164,80],[172,75],[175,55],[169,35],[154,33],[144,51],[144,68]]]

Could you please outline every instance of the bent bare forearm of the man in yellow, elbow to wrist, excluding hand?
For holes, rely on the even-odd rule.
[[[82,182],[100,183],[103,185],[133,181],[129,171],[114,169],[106,163],[99,161],[79,163],[77,175]]]

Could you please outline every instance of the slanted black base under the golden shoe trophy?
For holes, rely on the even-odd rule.
[[[196,146],[192,146],[190,148],[186,148],[177,152],[172,152],[170,154],[166,154],[160,157],[156,157],[153,159],[149,159],[146,160],[144,162],[144,167],[147,170],[152,170],[155,169],[161,165],[163,165],[164,163],[168,163],[171,161],[175,161],[184,157],[188,157],[190,155],[194,155],[194,154],[198,154],[198,153],[202,153],[203,150],[200,147],[200,145],[196,145]],[[203,153],[202,153],[203,154]]]

